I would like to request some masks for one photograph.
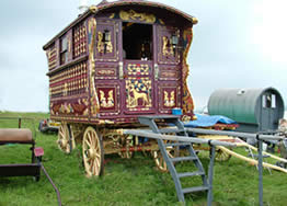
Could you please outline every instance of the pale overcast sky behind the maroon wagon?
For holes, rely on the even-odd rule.
[[[196,108],[220,88],[274,87],[287,101],[286,0],[158,1],[199,21],[188,57]],[[78,5],[78,0],[1,0],[0,111],[48,111],[42,46],[77,18]]]

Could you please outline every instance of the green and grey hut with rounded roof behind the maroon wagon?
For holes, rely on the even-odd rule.
[[[284,116],[284,101],[274,88],[220,89],[210,95],[208,113],[237,121],[242,131],[274,130]]]

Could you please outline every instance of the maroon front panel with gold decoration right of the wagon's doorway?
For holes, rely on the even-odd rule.
[[[157,64],[154,78],[159,112],[171,114],[181,107],[181,56],[177,49],[180,31],[175,27],[157,26]]]

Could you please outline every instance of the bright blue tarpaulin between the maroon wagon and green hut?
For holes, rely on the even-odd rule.
[[[188,123],[183,123],[185,127],[210,127],[218,123],[220,124],[237,124],[236,121],[221,115],[202,115],[195,114],[197,119]]]

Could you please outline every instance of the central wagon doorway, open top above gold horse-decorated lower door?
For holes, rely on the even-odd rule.
[[[125,114],[156,113],[152,31],[152,24],[123,22]]]

